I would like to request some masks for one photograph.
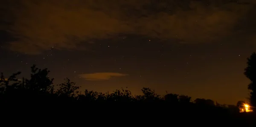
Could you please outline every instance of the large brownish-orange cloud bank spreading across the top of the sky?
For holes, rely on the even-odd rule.
[[[79,49],[91,39],[119,34],[206,43],[236,33],[235,27],[255,4],[255,0],[8,0],[0,6],[4,10],[0,29],[17,38],[9,43],[11,50],[27,54],[40,54],[52,46]]]

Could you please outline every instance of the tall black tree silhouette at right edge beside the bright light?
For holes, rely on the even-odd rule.
[[[253,52],[250,58],[247,58],[247,67],[244,69],[244,75],[250,79],[248,89],[250,90],[250,103],[256,107],[256,53]]]

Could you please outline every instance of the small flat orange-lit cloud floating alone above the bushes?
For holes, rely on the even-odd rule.
[[[98,72],[91,74],[81,74],[81,78],[85,78],[89,81],[98,81],[98,80],[109,80],[111,77],[121,77],[127,76],[128,74],[114,73],[114,72]]]

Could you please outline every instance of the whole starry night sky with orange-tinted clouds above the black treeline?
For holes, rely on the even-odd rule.
[[[246,100],[256,0],[3,0],[0,72],[48,68],[81,90],[150,87],[221,104]]]

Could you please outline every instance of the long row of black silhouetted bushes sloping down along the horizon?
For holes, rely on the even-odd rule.
[[[1,100],[26,100],[34,101],[47,98],[47,100],[77,101],[84,103],[92,102],[169,102],[172,104],[198,104],[203,106],[234,107],[232,105],[221,105],[210,99],[197,98],[192,101],[187,95],[166,94],[158,95],[150,88],[141,89],[142,95],[132,95],[127,89],[116,89],[113,92],[96,92],[85,90],[81,92],[76,83],[69,78],[64,79],[64,83],[53,84],[53,78],[49,78],[48,69],[39,69],[36,65],[31,67],[30,79],[17,79],[21,72],[14,73],[9,78],[5,78],[1,73],[0,80],[0,98]],[[56,89],[57,88],[57,89]]]

